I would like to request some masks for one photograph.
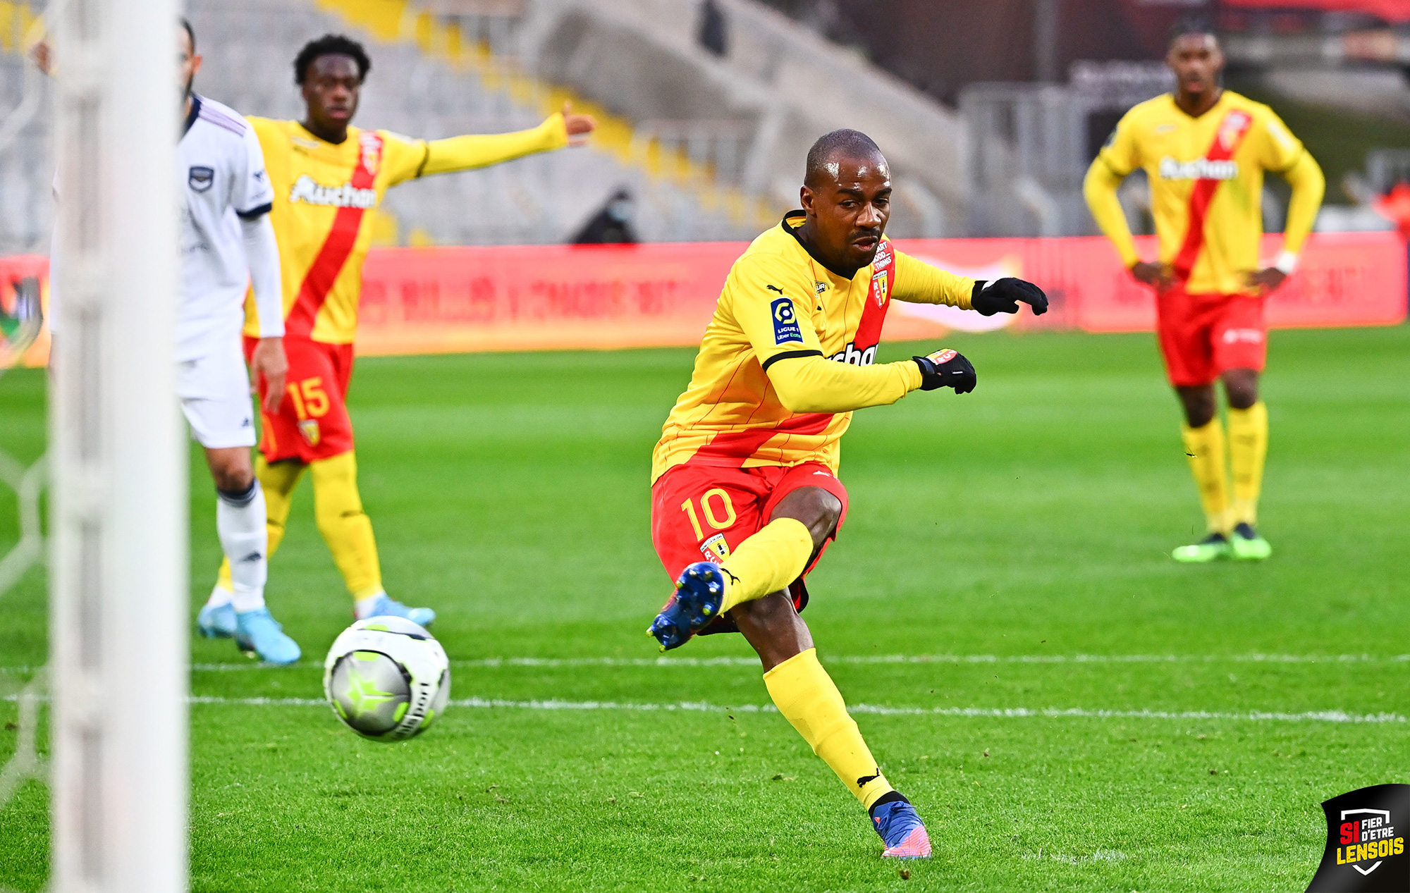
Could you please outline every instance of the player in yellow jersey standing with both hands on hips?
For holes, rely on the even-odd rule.
[[[1321,203],[1321,169],[1273,110],[1220,86],[1224,54],[1211,30],[1182,23],[1166,62],[1179,86],[1121,118],[1091,162],[1084,192],[1097,224],[1131,275],[1156,292],[1160,351],[1184,406],[1184,452],[1200,489],[1208,534],[1175,549],[1182,562],[1263,559],[1255,530],[1268,454],[1268,408],[1258,376],[1268,352],[1263,300],[1297,265]],[[1142,261],[1117,201],[1117,186],[1144,168],[1160,259]],[[1283,251],[1259,261],[1263,172],[1293,187]],[[1228,466],[1214,382],[1228,397]]]

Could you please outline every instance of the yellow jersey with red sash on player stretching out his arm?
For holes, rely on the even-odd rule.
[[[348,128],[347,139],[319,139],[298,121],[250,118],[274,187],[269,220],[283,272],[285,334],[350,344],[357,334],[362,261],[372,241],[368,211],[398,183],[467,170],[568,144],[561,114],[515,134],[410,139],[385,130]],[[245,334],[258,337],[254,300]]]

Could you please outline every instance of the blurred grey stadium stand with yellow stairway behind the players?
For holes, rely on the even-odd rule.
[[[413,137],[530,127],[564,99],[598,115],[591,146],[409,183],[378,244],[546,244],[630,210],[642,241],[752,238],[797,204],[821,132],[873,134],[901,187],[891,231],[963,235],[957,115],[788,18],[719,0],[715,49],[694,0],[192,0],[197,89],[247,114],[296,117],[290,61],[329,31],[374,59],[357,123]],[[30,7],[0,0],[0,101],[23,96]],[[716,49],[722,52],[716,52]],[[32,69],[30,72],[32,76]],[[51,111],[0,161],[0,252],[44,252]],[[626,196],[626,201],[622,196]]]

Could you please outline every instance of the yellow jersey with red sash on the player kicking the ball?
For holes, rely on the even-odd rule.
[[[832,272],[794,235],[802,223],[802,211],[791,213],[730,269],[689,387],[651,456],[653,482],[685,462],[730,468],[822,462],[836,472],[838,441],[852,413],[791,411],[768,379],[770,366],[808,356],[871,366],[893,300],[969,308],[973,279],[907,256],[890,239],[853,276]],[[853,406],[891,403],[919,386],[909,361],[887,365],[895,366],[893,394]]]

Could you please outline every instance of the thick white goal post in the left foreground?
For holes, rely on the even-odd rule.
[[[49,10],[59,151],[49,680],[58,893],[186,889],[175,0]]]

